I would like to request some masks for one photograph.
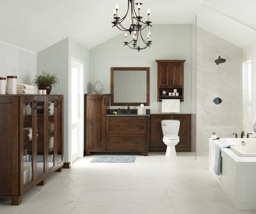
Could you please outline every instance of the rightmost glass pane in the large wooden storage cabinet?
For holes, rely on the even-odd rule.
[[[61,160],[63,159],[62,157],[62,105],[63,101],[58,100],[59,105],[58,105],[58,148],[57,148],[57,163],[60,163]]]

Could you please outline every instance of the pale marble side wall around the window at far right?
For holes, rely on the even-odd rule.
[[[247,96],[243,96],[243,129],[245,133],[252,133],[252,136],[250,137],[255,137],[256,133],[253,132],[253,124],[256,122],[256,44],[244,48],[243,62],[247,61],[251,61],[252,65],[252,99],[251,101],[248,101]],[[243,70],[243,72],[245,71]],[[244,94],[246,94],[246,91],[248,91],[248,85],[243,84],[242,90]]]

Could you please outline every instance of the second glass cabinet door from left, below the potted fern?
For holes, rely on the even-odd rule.
[[[36,102],[36,123],[35,129],[37,134],[36,139],[36,184],[45,178],[46,172],[46,114],[48,106],[46,105],[46,96],[35,97]]]

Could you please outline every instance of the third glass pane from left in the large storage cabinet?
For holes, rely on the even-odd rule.
[[[54,101],[48,102],[48,168],[54,166]]]

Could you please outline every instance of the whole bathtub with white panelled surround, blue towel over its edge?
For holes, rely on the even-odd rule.
[[[221,149],[221,175],[215,175],[216,146],[224,141],[237,146]],[[209,138],[209,170],[236,209],[256,209],[256,139]]]

